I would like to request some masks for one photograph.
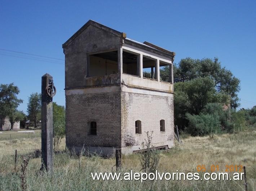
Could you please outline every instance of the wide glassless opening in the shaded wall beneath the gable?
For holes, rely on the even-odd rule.
[[[88,56],[88,76],[104,76],[118,73],[118,52],[104,52]]]

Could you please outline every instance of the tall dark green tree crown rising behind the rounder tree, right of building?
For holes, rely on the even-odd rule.
[[[231,108],[239,106],[240,80],[230,70],[221,67],[217,58],[199,60],[187,57],[181,59],[178,65],[173,67],[173,74],[175,82],[210,76],[214,80],[216,92],[230,95]]]

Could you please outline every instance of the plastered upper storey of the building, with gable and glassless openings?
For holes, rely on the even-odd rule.
[[[109,84],[172,92],[175,52],[89,20],[63,45],[65,89]],[[169,83],[169,84],[168,84]],[[153,84],[153,85],[152,85]],[[168,84],[168,85],[163,85]]]

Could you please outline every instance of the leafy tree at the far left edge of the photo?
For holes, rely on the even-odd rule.
[[[22,99],[17,98],[18,94],[19,88],[14,83],[0,85],[0,115],[9,117],[11,130],[14,122],[19,119],[17,108],[23,102]]]

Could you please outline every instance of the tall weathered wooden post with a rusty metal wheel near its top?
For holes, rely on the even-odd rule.
[[[42,108],[41,108],[41,150],[42,167],[41,170],[53,171],[53,109],[52,90],[53,79],[49,74],[42,76]],[[49,95],[50,93],[50,95]]]

